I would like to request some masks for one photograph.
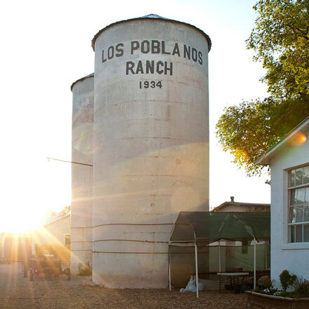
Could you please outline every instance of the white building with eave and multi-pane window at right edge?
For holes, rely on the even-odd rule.
[[[282,270],[309,279],[309,117],[256,164],[271,168],[271,278]]]

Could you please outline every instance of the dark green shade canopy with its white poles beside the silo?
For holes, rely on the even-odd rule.
[[[220,241],[252,241],[254,240],[254,286],[256,284],[256,242],[270,240],[270,213],[241,212],[205,212],[181,211],[173,225],[169,239],[169,287],[171,289],[171,254],[183,254],[179,257],[178,270],[181,264],[186,270],[190,268],[190,256],[195,256],[195,276],[198,284],[199,272],[209,270],[209,244]],[[185,246],[185,247],[184,247]],[[178,248],[181,248],[180,252]],[[190,251],[190,247],[194,251]],[[175,249],[173,249],[175,248]],[[178,253],[177,253],[178,252]],[[191,255],[190,255],[191,252]],[[220,243],[218,258],[220,261]],[[192,256],[193,257],[193,256]],[[182,263],[180,262],[182,261]],[[185,262],[185,263],[184,263]],[[220,265],[220,262],[219,262]],[[192,265],[191,265],[192,266]],[[220,268],[219,268],[219,271]],[[183,275],[185,272],[182,272]],[[198,297],[198,290],[197,290]]]

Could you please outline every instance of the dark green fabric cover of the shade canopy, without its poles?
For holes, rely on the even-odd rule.
[[[270,213],[181,211],[169,244],[270,239]]]

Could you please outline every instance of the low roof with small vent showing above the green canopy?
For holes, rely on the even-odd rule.
[[[235,202],[234,197],[230,197],[230,202],[224,202],[212,211],[270,212],[270,204]]]

